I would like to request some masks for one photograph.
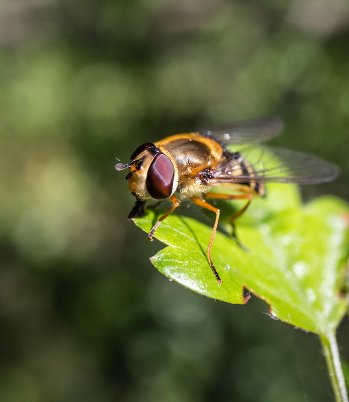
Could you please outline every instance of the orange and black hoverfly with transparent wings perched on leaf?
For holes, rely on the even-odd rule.
[[[265,194],[266,182],[326,183],[340,174],[337,166],[300,152],[263,146],[257,159],[251,161],[243,149],[233,152],[228,149],[247,144],[256,147],[258,143],[275,137],[282,128],[282,121],[276,117],[242,120],[212,130],[176,134],[140,145],[128,164],[115,166],[118,171],[129,169],[126,179],[136,197],[129,219],[143,216],[147,201],[170,199],[172,208],[159,218],[148,234],[148,239],[153,240],[160,223],[180,205],[180,200],[190,199],[215,212],[207,257],[217,283],[221,283],[211,257],[220,210],[204,199],[246,200],[246,204],[231,216],[230,222],[233,223],[247,209],[253,196]],[[266,161],[263,161],[264,149],[268,154]],[[242,194],[211,192],[213,187],[222,184]]]

